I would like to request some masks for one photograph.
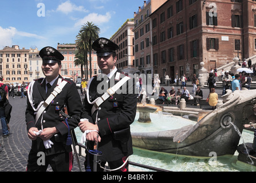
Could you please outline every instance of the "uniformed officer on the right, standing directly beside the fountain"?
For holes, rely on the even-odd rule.
[[[135,82],[132,78],[132,82],[125,82],[122,86],[122,92],[121,89],[117,90],[92,113],[93,102],[103,96],[109,87],[113,87],[127,75],[115,66],[117,60],[115,51],[119,49],[119,46],[114,42],[107,38],[99,38],[93,42],[92,48],[97,52],[97,63],[102,73],[90,79],[88,83],[81,113],[81,118],[86,118],[88,121],[81,121],[78,126],[82,132],[86,130],[97,131],[90,131],[86,135],[86,139],[99,142],[98,150],[103,155],[98,156],[97,159],[100,160],[101,166],[104,167],[105,163],[108,162],[111,169],[120,167],[119,171],[127,171],[128,163],[124,165],[124,162],[133,153],[129,126],[136,115]],[[104,87],[105,85],[107,87]],[[123,90],[124,87],[127,88],[126,92]],[[93,157],[91,154],[89,160],[90,167],[92,167]],[[87,162],[85,162],[85,166],[86,164]],[[98,164],[97,171],[102,170]]]

